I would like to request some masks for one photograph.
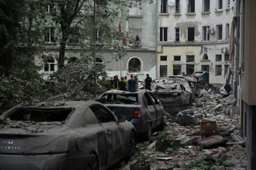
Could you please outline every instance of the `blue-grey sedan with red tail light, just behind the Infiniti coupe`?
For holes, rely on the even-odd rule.
[[[130,121],[142,140],[149,140],[151,131],[164,129],[163,101],[146,89],[134,92],[109,90],[99,96],[115,115],[123,115]]]

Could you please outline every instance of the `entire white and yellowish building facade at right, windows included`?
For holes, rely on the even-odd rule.
[[[224,83],[233,1],[158,1],[157,77],[209,72]]]

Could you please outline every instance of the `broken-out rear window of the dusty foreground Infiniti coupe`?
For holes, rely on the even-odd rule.
[[[39,108],[17,108],[5,117],[13,121],[34,122],[62,122],[73,111],[73,108],[39,109]]]

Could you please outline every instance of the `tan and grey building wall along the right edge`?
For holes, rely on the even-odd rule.
[[[235,0],[234,18],[231,29],[230,67],[231,84],[240,113],[243,139],[251,169],[256,169],[256,1]]]

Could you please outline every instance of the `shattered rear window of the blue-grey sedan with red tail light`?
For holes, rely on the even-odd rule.
[[[105,94],[107,103],[135,104],[138,102],[137,94]]]

